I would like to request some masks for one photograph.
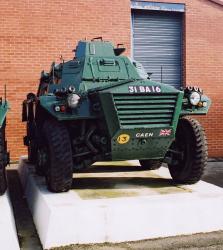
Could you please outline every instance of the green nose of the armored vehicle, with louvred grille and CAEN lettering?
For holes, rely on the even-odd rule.
[[[155,83],[134,82],[137,85],[154,86]],[[162,159],[174,140],[183,92],[159,84],[161,93],[130,95],[129,86],[131,83],[100,93],[111,137],[112,160]],[[160,135],[163,130],[168,130],[168,136]],[[127,143],[118,142],[122,134],[130,136]]]

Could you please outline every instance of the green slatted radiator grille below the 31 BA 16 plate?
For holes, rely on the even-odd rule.
[[[176,94],[113,94],[122,128],[171,126]]]

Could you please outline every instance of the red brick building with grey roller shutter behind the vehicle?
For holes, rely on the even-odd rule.
[[[177,75],[176,84],[199,85],[212,98],[211,110],[201,120],[207,132],[209,155],[223,156],[223,1],[9,0],[2,1],[0,7],[0,95],[3,85],[7,84],[11,103],[7,136],[13,160],[26,154],[21,103],[27,92],[36,91],[40,71],[49,69],[53,60],[59,61],[61,54],[65,59],[72,58],[72,49],[78,40],[96,36],[103,36],[114,44],[124,43],[127,54],[136,59],[140,59],[140,53],[148,53],[147,61],[155,50],[162,62],[159,51],[162,44],[170,42],[171,50],[178,51],[174,49],[175,54],[165,54],[164,59],[170,60],[173,68],[165,75],[164,64],[163,81],[168,75]],[[144,35],[151,37],[141,21],[147,22],[153,17],[158,17],[156,25],[160,30],[152,27],[149,48],[141,43],[145,41]],[[160,24],[162,17],[164,22]],[[169,23],[171,18],[175,22],[176,17],[178,26],[174,26],[177,22]],[[176,27],[175,31],[171,27]],[[159,36],[166,31],[171,38],[178,37],[176,46],[173,46],[175,40]],[[160,43],[156,41],[157,32]],[[157,44],[160,47],[157,48]],[[153,55],[153,59],[156,57]]]

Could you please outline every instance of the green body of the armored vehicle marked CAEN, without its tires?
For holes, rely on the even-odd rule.
[[[72,108],[68,105],[70,87],[80,97]],[[163,159],[174,141],[180,116],[206,114],[210,107],[210,99],[203,94],[201,104],[206,106],[192,106],[190,94],[190,89],[149,80],[138,63],[117,55],[110,42],[80,41],[73,60],[53,64],[49,73],[42,74],[35,102],[48,116],[66,124],[77,147],[74,161],[77,155],[82,159],[75,164],[82,168],[87,165],[80,166],[85,156],[88,163]],[[65,111],[56,106],[64,106]]]

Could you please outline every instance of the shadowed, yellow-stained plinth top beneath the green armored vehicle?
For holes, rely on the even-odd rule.
[[[74,174],[72,190],[82,199],[137,197],[191,192],[172,179],[128,162],[97,163]]]

